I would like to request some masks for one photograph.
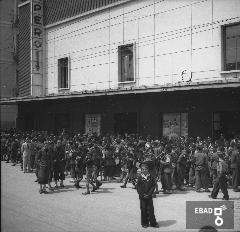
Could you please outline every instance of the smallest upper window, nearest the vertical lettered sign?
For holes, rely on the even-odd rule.
[[[69,88],[68,57],[58,60],[58,88]]]

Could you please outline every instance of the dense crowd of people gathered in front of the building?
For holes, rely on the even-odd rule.
[[[227,140],[223,135],[216,140],[207,138],[155,138],[137,134],[87,135],[62,131],[1,131],[1,160],[12,166],[21,164],[24,173],[35,172],[40,193],[64,188],[64,180],[71,175],[71,182],[81,188],[86,178],[86,192],[96,191],[102,181],[117,178],[121,188],[128,183],[136,188],[141,164],[148,163],[156,179],[153,197],[160,192],[174,193],[192,187],[196,192],[210,192],[216,198],[219,189],[223,199],[232,186],[239,191],[240,185],[240,137]],[[219,164],[224,179],[219,178]],[[224,169],[224,170],[223,170]],[[117,181],[116,180],[116,181]],[[54,182],[54,186],[52,186]],[[161,189],[158,183],[161,182]],[[48,188],[48,190],[47,190]]]

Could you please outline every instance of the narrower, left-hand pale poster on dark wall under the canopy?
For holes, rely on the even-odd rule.
[[[86,114],[85,115],[85,133],[100,135],[101,131],[101,115],[100,114]]]

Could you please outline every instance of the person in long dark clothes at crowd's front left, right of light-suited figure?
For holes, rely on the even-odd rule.
[[[48,150],[47,141],[44,142],[44,146],[39,151],[37,156],[37,162],[39,165],[38,170],[38,183],[40,184],[39,193],[47,193],[46,184],[49,183],[51,155]]]

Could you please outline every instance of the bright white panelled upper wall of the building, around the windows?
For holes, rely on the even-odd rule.
[[[118,88],[117,49],[130,43],[136,45],[130,85],[181,82],[183,70],[193,82],[222,80],[221,26],[238,22],[239,12],[238,0],[141,0],[48,27],[46,93],[58,93],[63,57],[70,58],[70,91]]]

